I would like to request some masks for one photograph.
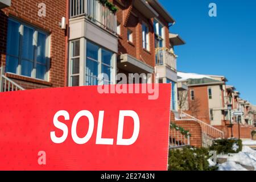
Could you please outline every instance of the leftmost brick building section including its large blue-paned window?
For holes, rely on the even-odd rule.
[[[65,85],[65,36],[59,22],[66,16],[63,1],[1,2],[0,65],[2,74],[24,89]],[[2,6],[3,5],[3,6]]]

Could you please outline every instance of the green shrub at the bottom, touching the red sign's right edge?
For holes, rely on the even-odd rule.
[[[207,148],[184,147],[170,150],[168,158],[169,171],[214,171],[209,167],[209,150]]]

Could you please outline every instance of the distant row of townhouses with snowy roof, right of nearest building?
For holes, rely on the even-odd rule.
[[[181,111],[222,131],[225,138],[251,138],[256,129],[256,106],[240,98],[240,92],[226,84],[225,76],[183,72],[177,76]]]

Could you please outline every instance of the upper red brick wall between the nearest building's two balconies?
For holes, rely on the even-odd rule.
[[[132,5],[132,1],[122,1],[120,5],[114,1],[118,7],[117,21],[121,23],[121,35],[118,39],[118,54],[128,53],[144,63],[155,66],[155,46],[154,46],[154,27],[152,19],[147,19]],[[142,22],[146,23],[150,31],[150,50],[142,47]],[[127,40],[127,30],[133,31],[133,42]]]

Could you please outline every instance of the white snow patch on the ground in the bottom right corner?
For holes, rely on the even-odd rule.
[[[240,164],[254,167],[256,171],[256,151],[248,146],[243,146],[243,150],[237,154],[218,155],[218,158],[226,158],[228,160],[226,163],[218,165],[220,171],[244,171],[245,168]]]

